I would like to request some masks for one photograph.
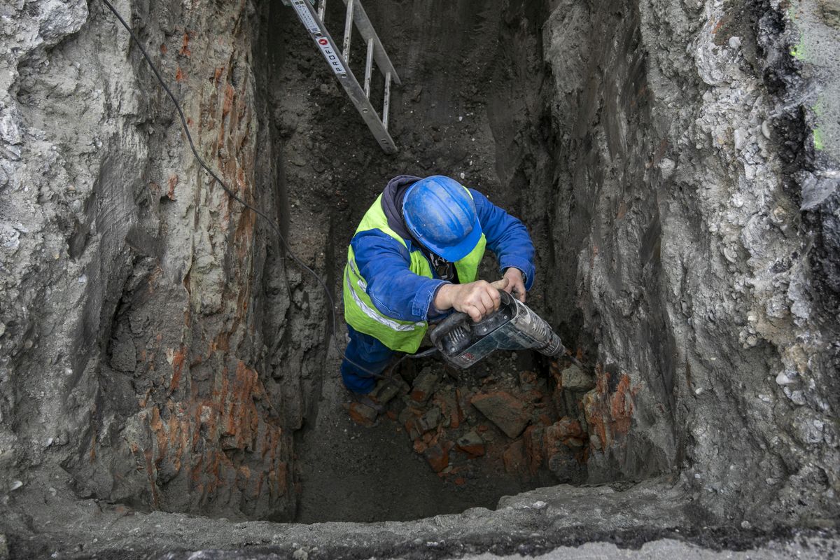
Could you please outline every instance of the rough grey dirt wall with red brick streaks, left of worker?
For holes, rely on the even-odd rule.
[[[269,8],[117,8],[208,163],[281,207],[254,75],[274,55],[255,56]],[[289,516],[296,406],[265,376],[291,306],[275,242],[198,169],[102,3],[3,10],[4,483],[61,478],[60,464],[80,496]]]

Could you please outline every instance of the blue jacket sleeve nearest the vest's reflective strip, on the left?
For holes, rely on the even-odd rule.
[[[379,230],[356,233],[350,245],[376,309],[401,321],[428,320],[435,293],[449,282],[414,274],[408,249]]]

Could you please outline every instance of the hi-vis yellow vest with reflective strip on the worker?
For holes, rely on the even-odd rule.
[[[471,193],[470,196],[472,196]],[[355,233],[378,229],[395,238],[403,247],[408,249],[405,239],[388,227],[388,218],[382,210],[381,199],[381,195],[376,198],[373,206],[365,213],[365,217],[362,218]],[[455,263],[455,270],[458,271],[458,280],[461,284],[475,280],[486,244],[487,239],[482,233],[475,249]],[[419,249],[411,252],[411,258],[412,262],[409,268],[414,274],[433,278],[432,266]],[[393,317],[387,317],[376,309],[376,306],[370,301],[370,296],[367,295],[367,281],[360,274],[359,267],[356,266],[352,245],[347,248],[347,265],[344,267],[344,320],[357,331],[378,338],[388,348],[398,352],[417,352],[417,348],[420,348],[423,336],[428,330],[428,322],[400,321]]]

